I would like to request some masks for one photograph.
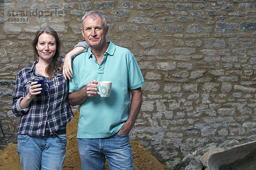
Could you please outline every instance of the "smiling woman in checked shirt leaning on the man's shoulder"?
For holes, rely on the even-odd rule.
[[[17,74],[12,111],[20,116],[17,153],[23,170],[63,169],[66,125],[74,115],[62,74],[64,57],[60,57],[60,46],[54,29],[41,28],[32,42],[35,62]],[[75,48],[66,57],[83,50]],[[47,81],[49,91],[41,94],[41,85],[35,79]]]

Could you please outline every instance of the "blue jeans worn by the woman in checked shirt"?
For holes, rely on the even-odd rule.
[[[67,137],[18,135],[17,153],[23,170],[62,170]]]

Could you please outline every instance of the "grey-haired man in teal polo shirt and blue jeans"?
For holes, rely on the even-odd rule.
[[[82,169],[133,170],[128,133],[134,126],[145,85],[134,55],[106,41],[105,15],[90,11],[82,18],[81,33],[87,52],[73,60],[69,102],[80,106],[78,144]],[[97,95],[98,81],[111,81],[111,96]],[[130,104],[131,96],[131,104]]]

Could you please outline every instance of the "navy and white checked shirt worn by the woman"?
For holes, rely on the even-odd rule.
[[[47,79],[35,70],[37,62],[21,69],[17,74],[12,112],[15,116],[20,116],[18,134],[44,136],[47,122],[50,133],[53,134],[60,127],[65,127],[74,117],[68,102],[68,82],[64,79],[62,71],[55,71],[54,78]],[[63,62],[64,57],[61,57],[61,64]],[[29,93],[29,86],[35,79],[49,82],[49,91],[36,95],[30,102],[29,108],[20,109],[20,100]]]

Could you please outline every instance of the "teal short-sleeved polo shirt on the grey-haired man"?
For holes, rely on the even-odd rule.
[[[80,106],[77,138],[105,138],[118,132],[129,116],[130,90],[145,85],[134,55],[126,48],[108,43],[100,64],[90,48],[72,62],[70,93],[79,91],[93,79],[112,82],[110,97],[96,94]]]

